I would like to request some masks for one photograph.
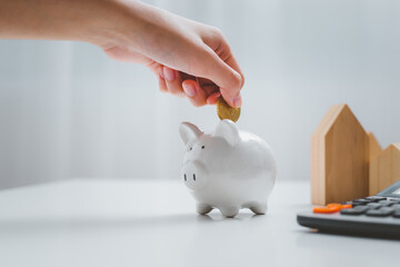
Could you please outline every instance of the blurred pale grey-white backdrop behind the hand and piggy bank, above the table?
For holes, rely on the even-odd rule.
[[[310,136],[348,102],[382,146],[400,141],[400,2],[149,1],[219,27],[247,78],[241,129],[274,149],[279,179],[309,178]],[[0,187],[76,177],[178,179],[178,126],[218,122],[158,91],[142,66],[90,44],[0,41]]]

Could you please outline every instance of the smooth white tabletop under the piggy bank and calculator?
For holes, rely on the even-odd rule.
[[[176,181],[70,180],[0,191],[0,266],[399,266],[400,241],[318,234],[280,182],[267,216],[194,212]]]

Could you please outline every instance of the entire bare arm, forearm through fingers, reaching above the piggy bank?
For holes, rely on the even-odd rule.
[[[0,0],[0,39],[78,40],[148,66],[161,91],[194,106],[241,106],[244,78],[221,32],[140,1]],[[16,19],[18,18],[18,19]]]

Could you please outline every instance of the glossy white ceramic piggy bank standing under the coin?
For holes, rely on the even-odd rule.
[[[186,145],[181,179],[198,201],[198,214],[213,208],[226,217],[234,217],[240,208],[266,214],[277,174],[267,142],[239,131],[231,120],[221,120],[213,134],[182,122],[179,134]]]

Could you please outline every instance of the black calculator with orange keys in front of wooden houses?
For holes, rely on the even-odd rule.
[[[297,215],[301,226],[336,234],[400,238],[400,180],[376,196],[342,202],[330,214]]]

